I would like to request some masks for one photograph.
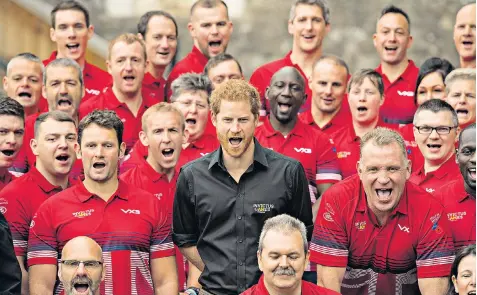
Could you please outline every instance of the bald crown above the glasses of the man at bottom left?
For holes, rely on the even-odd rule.
[[[103,261],[103,251],[93,239],[85,236],[73,238],[66,243],[61,251],[61,259],[100,260]]]

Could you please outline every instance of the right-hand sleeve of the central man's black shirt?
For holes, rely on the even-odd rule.
[[[313,235],[313,213],[311,211],[310,192],[308,180],[306,178],[303,166],[298,163],[288,179],[292,180],[291,195],[292,207],[290,215],[301,220],[306,226],[306,235],[308,241],[311,241]]]

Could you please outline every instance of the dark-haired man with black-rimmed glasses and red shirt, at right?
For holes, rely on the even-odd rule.
[[[455,161],[455,141],[459,119],[445,101],[431,99],[414,114],[414,138],[424,156],[409,181],[434,194],[442,186],[462,178]]]

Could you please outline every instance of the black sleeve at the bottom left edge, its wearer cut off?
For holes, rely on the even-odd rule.
[[[18,265],[7,220],[0,213],[0,294],[21,294],[22,273]]]

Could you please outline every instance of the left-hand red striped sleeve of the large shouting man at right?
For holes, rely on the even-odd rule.
[[[336,192],[338,193],[338,192]],[[310,243],[310,261],[331,267],[348,264],[348,235],[333,187],[322,197]]]

